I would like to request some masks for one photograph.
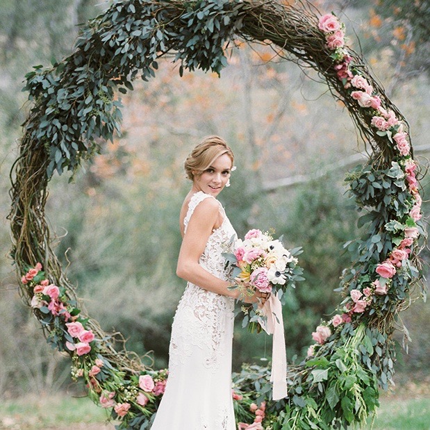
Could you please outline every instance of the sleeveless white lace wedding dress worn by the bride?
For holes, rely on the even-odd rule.
[[[184,219],[206,198],[195,193]],[[235,234],[224,208],[222,225],[213,231],[199,264],[226,279],[224,244]],[[188,283],[179,301],[169,346],[169,377],[151,430],[235,430],[231,396],[233,299]]]

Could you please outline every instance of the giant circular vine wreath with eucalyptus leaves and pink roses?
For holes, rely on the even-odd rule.
[[[85,315],[51,249],[44,216],[47,185],[55,171],[75,172],[97,154],[100,139],[119,129],[115,91],[155,76],[157,59],[174,53],[179,73],[220,73],[224,49],[235,38],[276,46],[299,67],[313,67],[349,111],[370,154],[347,183],[362,238],[347,245],[351,267],[342,272],[342,301],[313,333],[315,345],[288,370],[289,397],[270,400],[269,371],[244,365],[233,377],[240,429],[331,429],[363,424],[378,406],[378,387],[392,378],[392,333],[413,286],[422,286],[421,198],[408,124],[345,45],[345,26],[307,1],[126,0],[83,28],[71,56],[26,75],[33,101],[20,154],[11,174],[12,256],[26,304],[47,340],[72,358],[72,378],[119,420],[119,429],[151,425],[167,372],[152,370],[135,354],[117,351],[117,337]],[[279,50],[280,48],[280,50]],[[422,288],[424,288],[422,286]]]

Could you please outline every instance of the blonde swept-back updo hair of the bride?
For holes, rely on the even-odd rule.
[[[223,154],[227,154],[231,158],[231,167],[233,167],[233,151],[227,146],[225,140],[219,136],[204,138],[185,160],[184,167],[188,179],[194,181],[195,176],[199,177],[216,158]]]

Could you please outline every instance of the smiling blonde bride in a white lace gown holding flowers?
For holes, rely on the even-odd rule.
[[[176,273],[188,283],[174,316],[169,378],[151,430],[235,429],[231,347],[239,292],[229,290],[222,256],[235,231],[217,200],[229,185],[233,161],[217,136],[204,139],[185,160],[192,187],[180,213]]]

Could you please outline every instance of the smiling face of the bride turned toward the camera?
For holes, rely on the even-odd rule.
[[[196,191],[203,191],[216,197],[229,181],[230,172],[231,158],[227,154],[222,154],[215,158],[200,176],[194,177],[193,187]]]

